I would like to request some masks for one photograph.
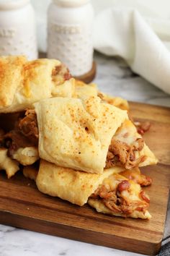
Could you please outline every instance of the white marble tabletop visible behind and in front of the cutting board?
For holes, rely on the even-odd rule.
[[[101,54],[95,54],[95,60],[97,62],[97,77],[94,82],[97,82],[100,90],[127,98],[130,101],[170,106],[170,95],[133,74],[122,60]],[[168,221],[170,221],[170,209],[164,236],[170,235]],[[39,255],[137,256],[138,254],[0,225],[0,256]]]

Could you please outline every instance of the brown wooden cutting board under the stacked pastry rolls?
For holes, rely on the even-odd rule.
[[[150,221],[103,215],[41,194],[35,183],[18,173],[0,174],[0,223],[146,255],[156,255],[164,234],[170,184],[170,108],[130,103],[133,117],[151,121],[146,142],[158,157],[157,166],[143,168],[153,178]]]

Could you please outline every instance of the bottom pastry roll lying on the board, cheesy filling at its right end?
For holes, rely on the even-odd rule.
[[[151,218],[148,195],[139,184],[118,174],[120,171],[121,167],[114,167],[104,170],[102,174],[89,174],[41,160],[36,184],[42,193],[80,206],[88,202],[98,212]]]

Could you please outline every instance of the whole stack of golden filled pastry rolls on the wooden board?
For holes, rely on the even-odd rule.
[[[45,194],[113,216],[151,218],[140,166],[156,157],[128,103],[74,80],[60,61],[0,59],[0,169]],[[35,166],[32,164],[38,163]]]

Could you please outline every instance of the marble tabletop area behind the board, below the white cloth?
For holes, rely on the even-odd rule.
[[[170,95],[134,74],[122,59],[95,54],[97,83],[104,93],[161,106],[170,106]],[[170,86],[170,85],[169,85]]]

